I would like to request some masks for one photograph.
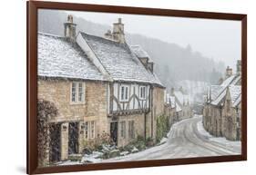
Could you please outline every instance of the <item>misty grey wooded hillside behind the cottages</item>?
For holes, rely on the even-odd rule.
[[[38,15],[38,30],[63,35],[66,20],[65,12],[41,11]],[[103,36],[108,29],[111,29],[111,24],[95,24],[76,16],[74,22],[77,24],[77,31],[88,34]],[[148,52],[155,63],[155,72],[168,89],[173,86],[178,87],[178,82],[182,80],[217,83],[221,73],[224,72],[224,63],[216,63],[199,52],[194,52],[190,45],[184,48],[178,44],[169,44],[140,34],[126,34],[126,39],[128,44],[139,44]]]

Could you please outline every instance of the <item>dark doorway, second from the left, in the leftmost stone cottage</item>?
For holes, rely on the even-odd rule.
[[[69,122],[68,125],[68,154],[78,153],[78,122]]]

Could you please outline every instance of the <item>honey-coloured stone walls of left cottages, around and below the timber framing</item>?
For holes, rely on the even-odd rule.
[[[85,85],[84,102],[71,102],[71,84],[75,82]],[[57,115],[49,119],[49,123],[60,124],[60,160],[67,160],[70,155],[69,131],[72,131],[70,123],[77,124],[77,135],[74,137],[77,137],[75,150],[78,154],[83,153],[88,143],[98,141],[103,133],[110,135],[110,123],[113,122],[113,117],[108,113],[108,95],[111,95],[108,94],[108,86],[107,82],[100,81],[38,80],[38,99],[53,102],[56,105]],[[152,87],[151,91],[149,112],[118,115],[116,119],[118,147],[127,145],[130,141],[136,140],[138,136],[145,139],[150,137],[155,141],[156,120],[164,114],[164,89]],[[121,134],[121,122],[125,122],[125,136]],[[129,122],[134,123],[132,137]],[[48,154],[45,161],[49,161],[49,156]]]

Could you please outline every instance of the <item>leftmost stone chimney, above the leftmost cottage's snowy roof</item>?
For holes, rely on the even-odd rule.
[[[73,23],[73,15],[67,15],[67,22],[64,23],[64,36],[71,42],[76,41],[77,24]]]

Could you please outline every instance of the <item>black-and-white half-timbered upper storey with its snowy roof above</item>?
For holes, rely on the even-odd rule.
[[[104,67],[111,79],[109,116],[149,112],[152,86],[163,86],[148,69],[148,53],[143,51],[147,59],[143,63],[139,57],[142,54],[134,52],[128,44],[85,33],[78,34],[77,44],[88,53],[89,59]]]

